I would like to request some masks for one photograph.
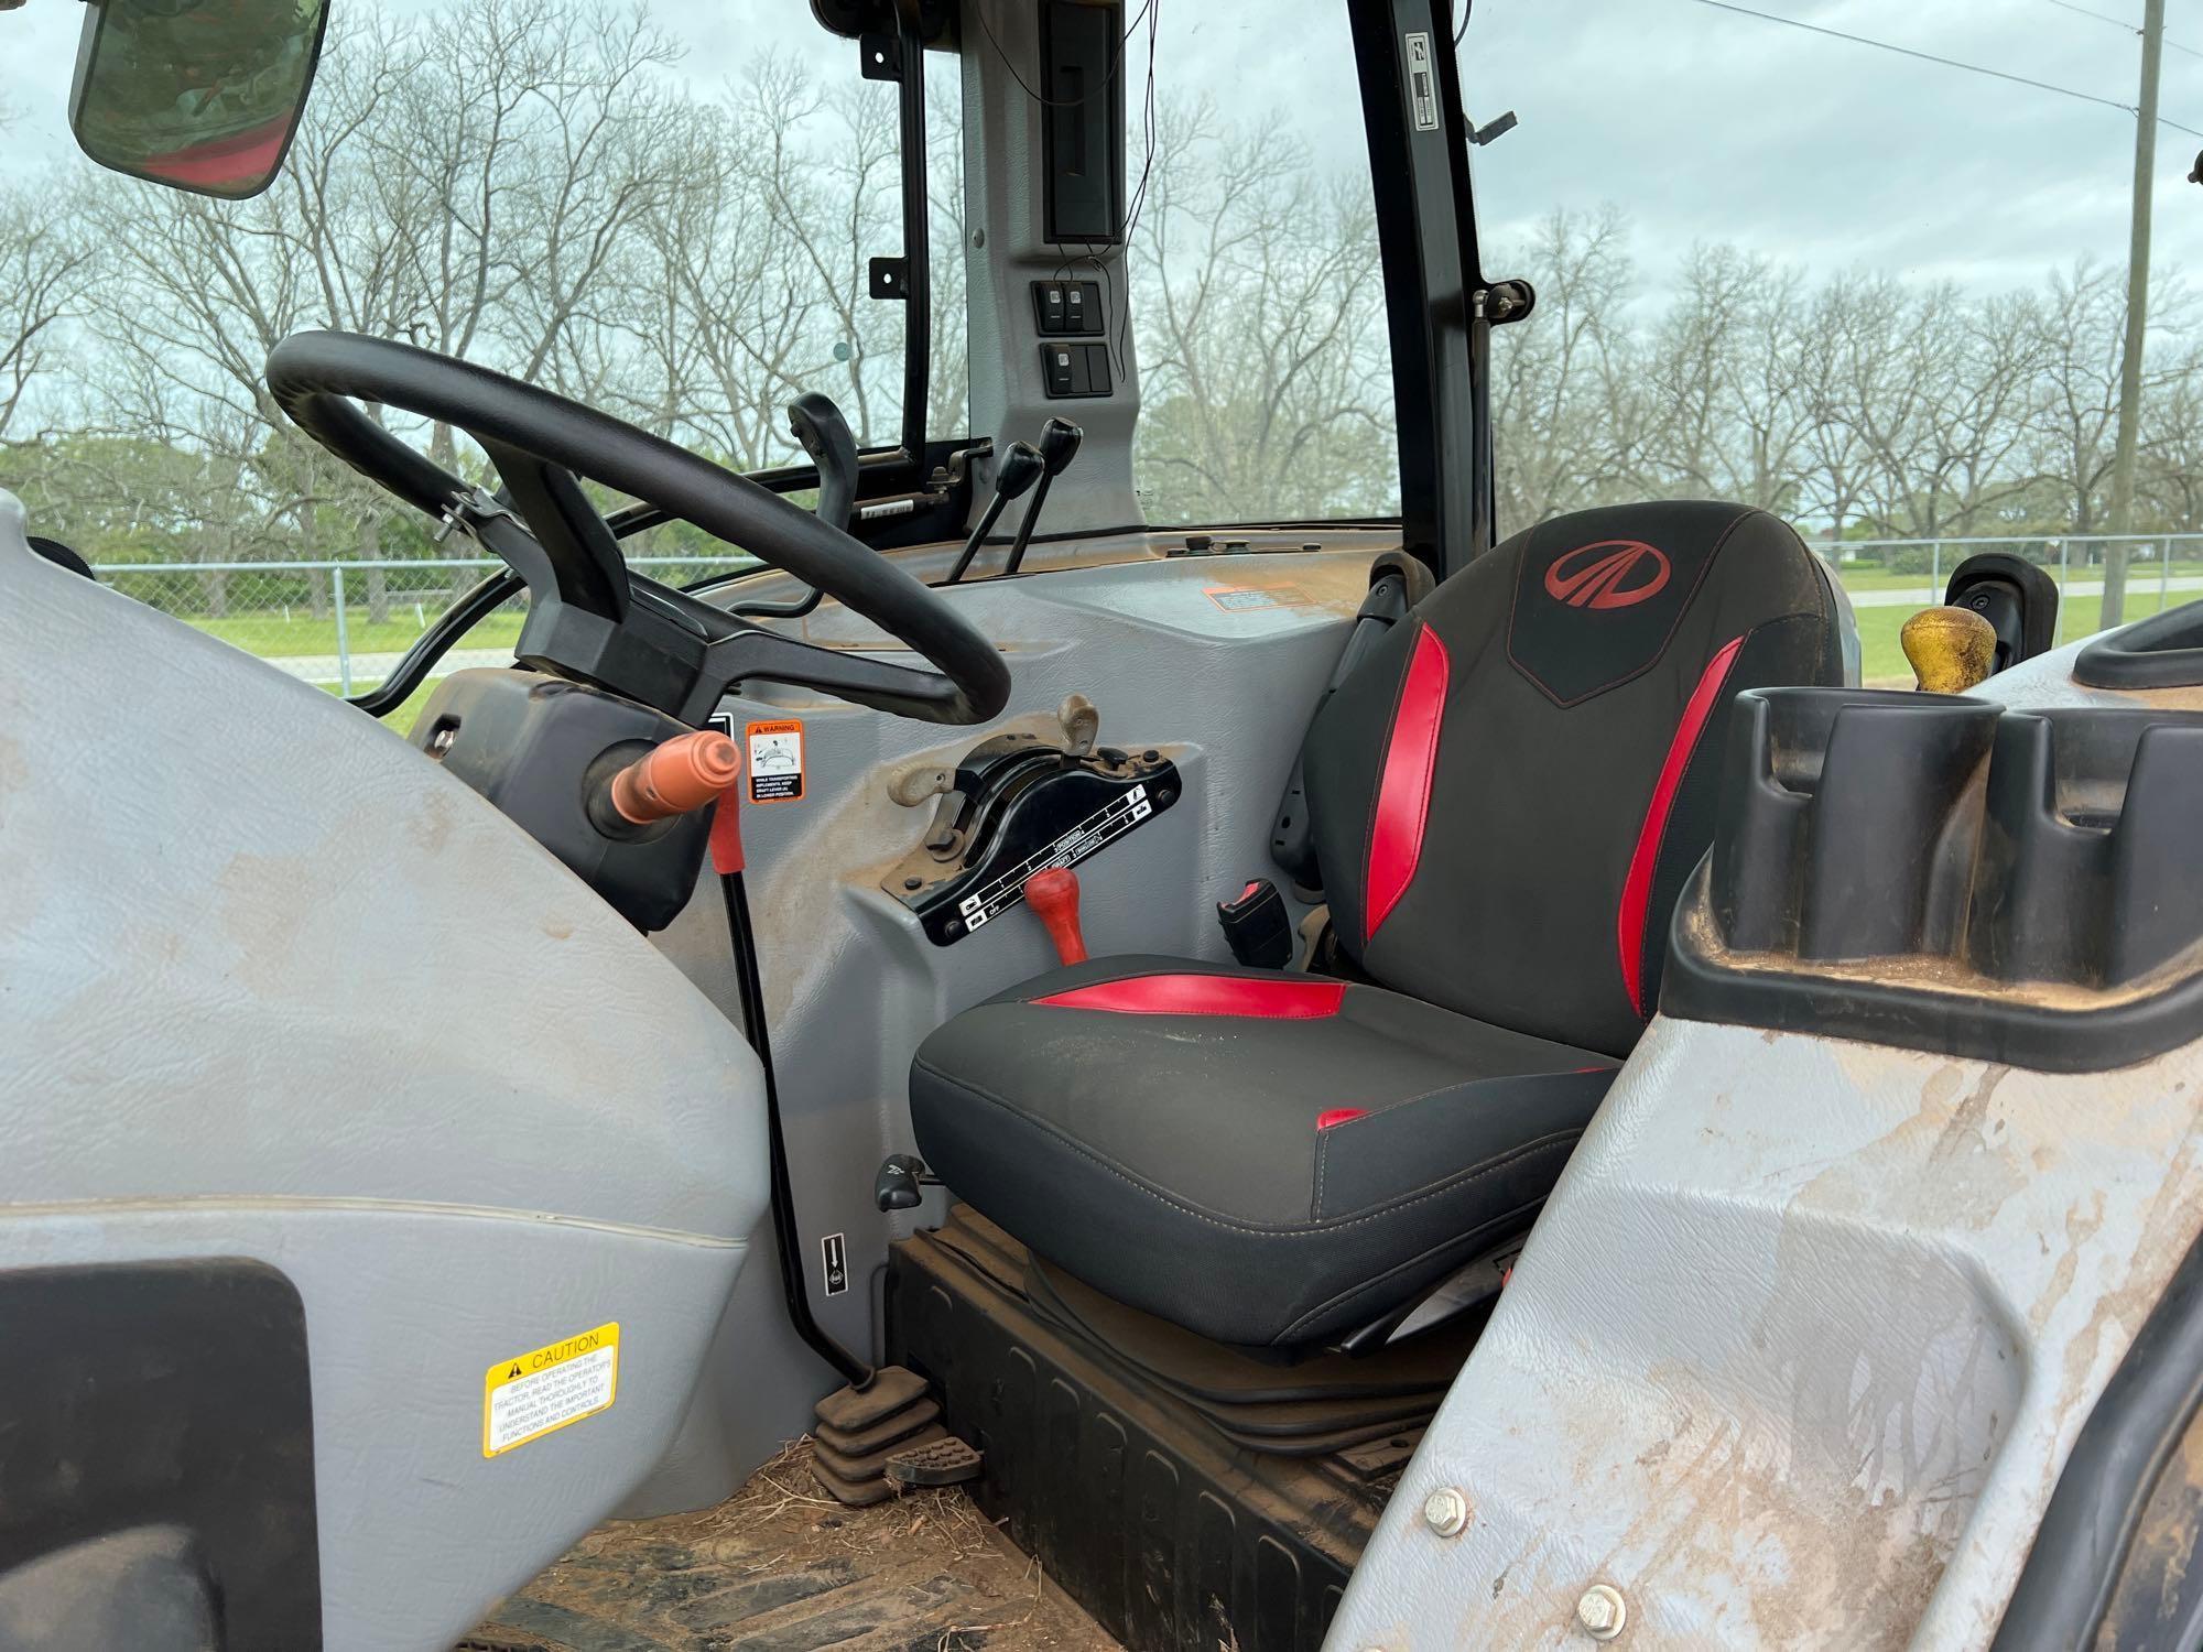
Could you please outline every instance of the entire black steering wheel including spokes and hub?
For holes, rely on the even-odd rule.
[[[269,352],[269,392],[355,471],[467,529],[529,590],[522,665],[641,700],[694,727],[747,678],[815,687],[923,722],[985,722],[1009,667],[963,615],[839,526],[670,441],[456,357],[357,333],[293,333]],[[414,452],[361,407],[379,401],[467,432],[502,489],[487,493]],[[632,493],[835,597],[932,670],[820,648],[648,579],[579,478]]]

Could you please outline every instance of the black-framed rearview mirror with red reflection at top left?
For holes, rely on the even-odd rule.
[[[93,0],[68,123],[99,165],[242,200],[306,108],[328,0]]]

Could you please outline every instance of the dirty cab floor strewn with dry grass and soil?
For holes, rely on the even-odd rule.
[[[460,1652],[1121,1652],[963,1491],[844,1509],[809,1454],[716,1509],[599,1526]]]

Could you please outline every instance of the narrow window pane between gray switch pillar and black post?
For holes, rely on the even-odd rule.
[[[1148,520],[1399,515],[1346,4],[1128,13],[1132,480]]]

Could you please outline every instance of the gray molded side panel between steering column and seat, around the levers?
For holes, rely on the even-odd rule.
[[[1095,956],[1229,956],[1214,903],[1276,870],[1271,817],[1368,588],[1370,535],[1333,537],[1350,548],[1150,557],[947,593],[1011,659],[1009,714],[991,727],[1053,729],[1055,707],[1079,692],[1102,709],[1104,745],[1168,747],[1185,775],[1179,806],[1079,866]],[[833,606],[804,634],[888,648]],[[729,700],[727,711],[738,729],[767,718],[804,722],[804,800],[745,811],[749,901],[813,1306],[846,1346],[870,1350],[881,1335],[888,1242],[941,1214],[938,1194],[914,1216],[872,1209],[879,1161],[912,1150],[910,1055],[943,1020],[1053,967],[1055,954],[1040,923],[1016,910],[936,947],[879,888],[932,817],[932,800],[923,808],[892,802],[888,778],[912,762],[954,764],[989,729],[941,729],[797,696]],[[716,890],[701,890],[659,943],[731,1013]],[[822,1295],[826,1233],[848,1238],[855,1289],[837,1297]],[[813,1401],[837,1383],[786,1333],[767,1269],[753,1269],[712,1361],[716,1405],[698,1399],[674,1463],[628,1513],[725,1496],[809,1427]]]

